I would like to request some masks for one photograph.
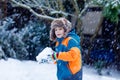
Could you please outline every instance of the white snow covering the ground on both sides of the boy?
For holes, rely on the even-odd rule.
[[[0,60],[0,80],[57,80],[55,64],[38,64],[35,61]],[[93,68],[83,67],[83,80],[120,80],[119,72],[98,75]]]

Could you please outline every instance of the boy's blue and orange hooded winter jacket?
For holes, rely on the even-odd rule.
[[[57,38],[55,51],[58,80],[82,80],[80,37],[71,31],[66,38]]]

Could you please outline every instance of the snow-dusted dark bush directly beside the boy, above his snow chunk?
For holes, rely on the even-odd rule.
[[[35,60],[36,55],[46,46],[49,46],[49,27],[39,20],[30,20],[19,31],[18,35],[25,43],[29,52],[29,59]]]

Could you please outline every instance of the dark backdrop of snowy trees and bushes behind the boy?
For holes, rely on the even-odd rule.
[[[0,59],[36,61],[54,49],[50,23],[59,17],[81,37],[83,65],[120,71],[120,0],[0,0]]]

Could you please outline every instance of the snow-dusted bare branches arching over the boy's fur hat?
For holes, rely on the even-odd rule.
[[[26,8],[31,13],[33,13],[35,16],[43,18],[43,19],[53,20],[54,17],[52,17],[51,15],[55,15],[55,14],[61,14],[64,17],[67,17],[69,15],[72,17],[80,18],[81,12],[78,7],[77,0],[72,1],[73,2],[72,4],[73,4],[76,14],[71,14],[69,12],[66,12],[65,6],[63,5],[63,1],[64,0],[52,0],[52,1],[51,0],[46,0],[46,1],[42,1],[42,0],[11,0],[11,2],[14,3],[16,6]],[[37,13],[33,8],[41,10],[41,13]],[[45,13],[46,10],[49,11],[50,15]],[[83,10],[83,11],[85,11],[85,10]],[[83,13],[83,11],[82,11],[82,13]]]

